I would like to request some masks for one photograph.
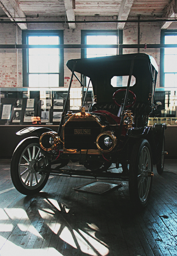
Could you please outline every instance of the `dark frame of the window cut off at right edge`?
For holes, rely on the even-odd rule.
[[[165,36],[177,36],[177,29],[165,29],[160,32],[160,44],[165,44]],[[160,48],[160,87],[165,87],[165,72],[164,72],[164,48]],[[177,73],[177,72],[176,72]]]

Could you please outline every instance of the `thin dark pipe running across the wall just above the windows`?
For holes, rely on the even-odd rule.
[[[18,19],[18,17],[16,17]],[[24,19],[24,17],[23,17]],[[153,19],[153,20],[58,20],[58,21],[6,21],[6,20],[0,20],[0,23],[138,23],[138,22],[167,22],[167,21],[177,21],[177,19]]]

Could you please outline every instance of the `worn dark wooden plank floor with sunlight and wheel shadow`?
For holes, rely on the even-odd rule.
[[[148,206],[131,208],[128,182],[105,195],[76,192],[86,179],[51,176],[38,195],[20,194],[0,160],[0,256],[177,255],[177,160],[154,168]]]

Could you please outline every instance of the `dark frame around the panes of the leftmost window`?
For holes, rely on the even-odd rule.
[[[28,44],[29,36],[59,36],[59,44],[64,44],[63,30],[25,30],[22,31],[22,44]],[[47,45],[46,45],[47,48]],[[60,49],[59,87],[64,86],[64,49]],[[22,49],[23,87],[29,87],[29,49]]]

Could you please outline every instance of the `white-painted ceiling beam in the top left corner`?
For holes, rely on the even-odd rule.
[[[20,8],[19,4],[15,0],[0,0],[0,7],[10,18],[11,21],[26,21],[26,16]],[[17,17],[16,19],[12,17]],[[21,17],[18,19],[18,17]],[[24,19],[22,19],[24,17]],[[21,29],[27,29],[26,23],[17,23]]]

